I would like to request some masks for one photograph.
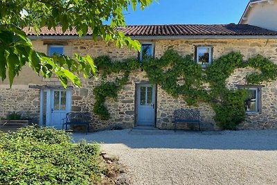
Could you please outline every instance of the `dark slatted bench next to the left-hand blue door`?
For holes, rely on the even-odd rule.
[[[67,130],[67,125],[84,125],[89,132],[89,121],[91,121],[90,112],[69,112],[66,117],[62,119],[62,129]]]

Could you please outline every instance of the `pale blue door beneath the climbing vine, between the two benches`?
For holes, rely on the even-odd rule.
[[[156,87],[154,85],[137,86],[137,125],[154,126]]]

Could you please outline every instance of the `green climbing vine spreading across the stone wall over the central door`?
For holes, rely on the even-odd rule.
[[[238,52],[224,55],[205,70],[195,63],[193,55],[185,57],[170,49],[161,58],[148,58],[139,63],[137,60],[111,62],[108,56],[96,58],[96,66],[102,69],[102,83],[95,89],[96,103],[93,112],[101,119],[109,119],[109,112],[105,107],[106,98],[116,99],[118,91],[128,82],[129,73],[136,69],[144,70],[152,84],[158,84],[168,94],[175,98],[184,98],[188,105],[197,105],[199,102],[209,103],[215,111],[215,122],[222,129],[235,130],[236,126],[244,121],[244,100],[248,96],[245,89],[228,89],[226,79],[235,69],[253,67],[259,73],[247,76],[248,84],[260,84],[277,79],[277,65],[269,59],[257,55],[248,61],[242,60]],[[107,76],[111,73],[123,72],[122,78],[109,82]]]

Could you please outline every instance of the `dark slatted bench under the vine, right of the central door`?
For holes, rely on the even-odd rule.
[[[177,109],[174,111],[174,122],[175,127],[174,131],[176,132],[176,125],[178,123],[193,123],[197,124],[199,131],[201,130],[200,127],[200,112],[196,109]]]

